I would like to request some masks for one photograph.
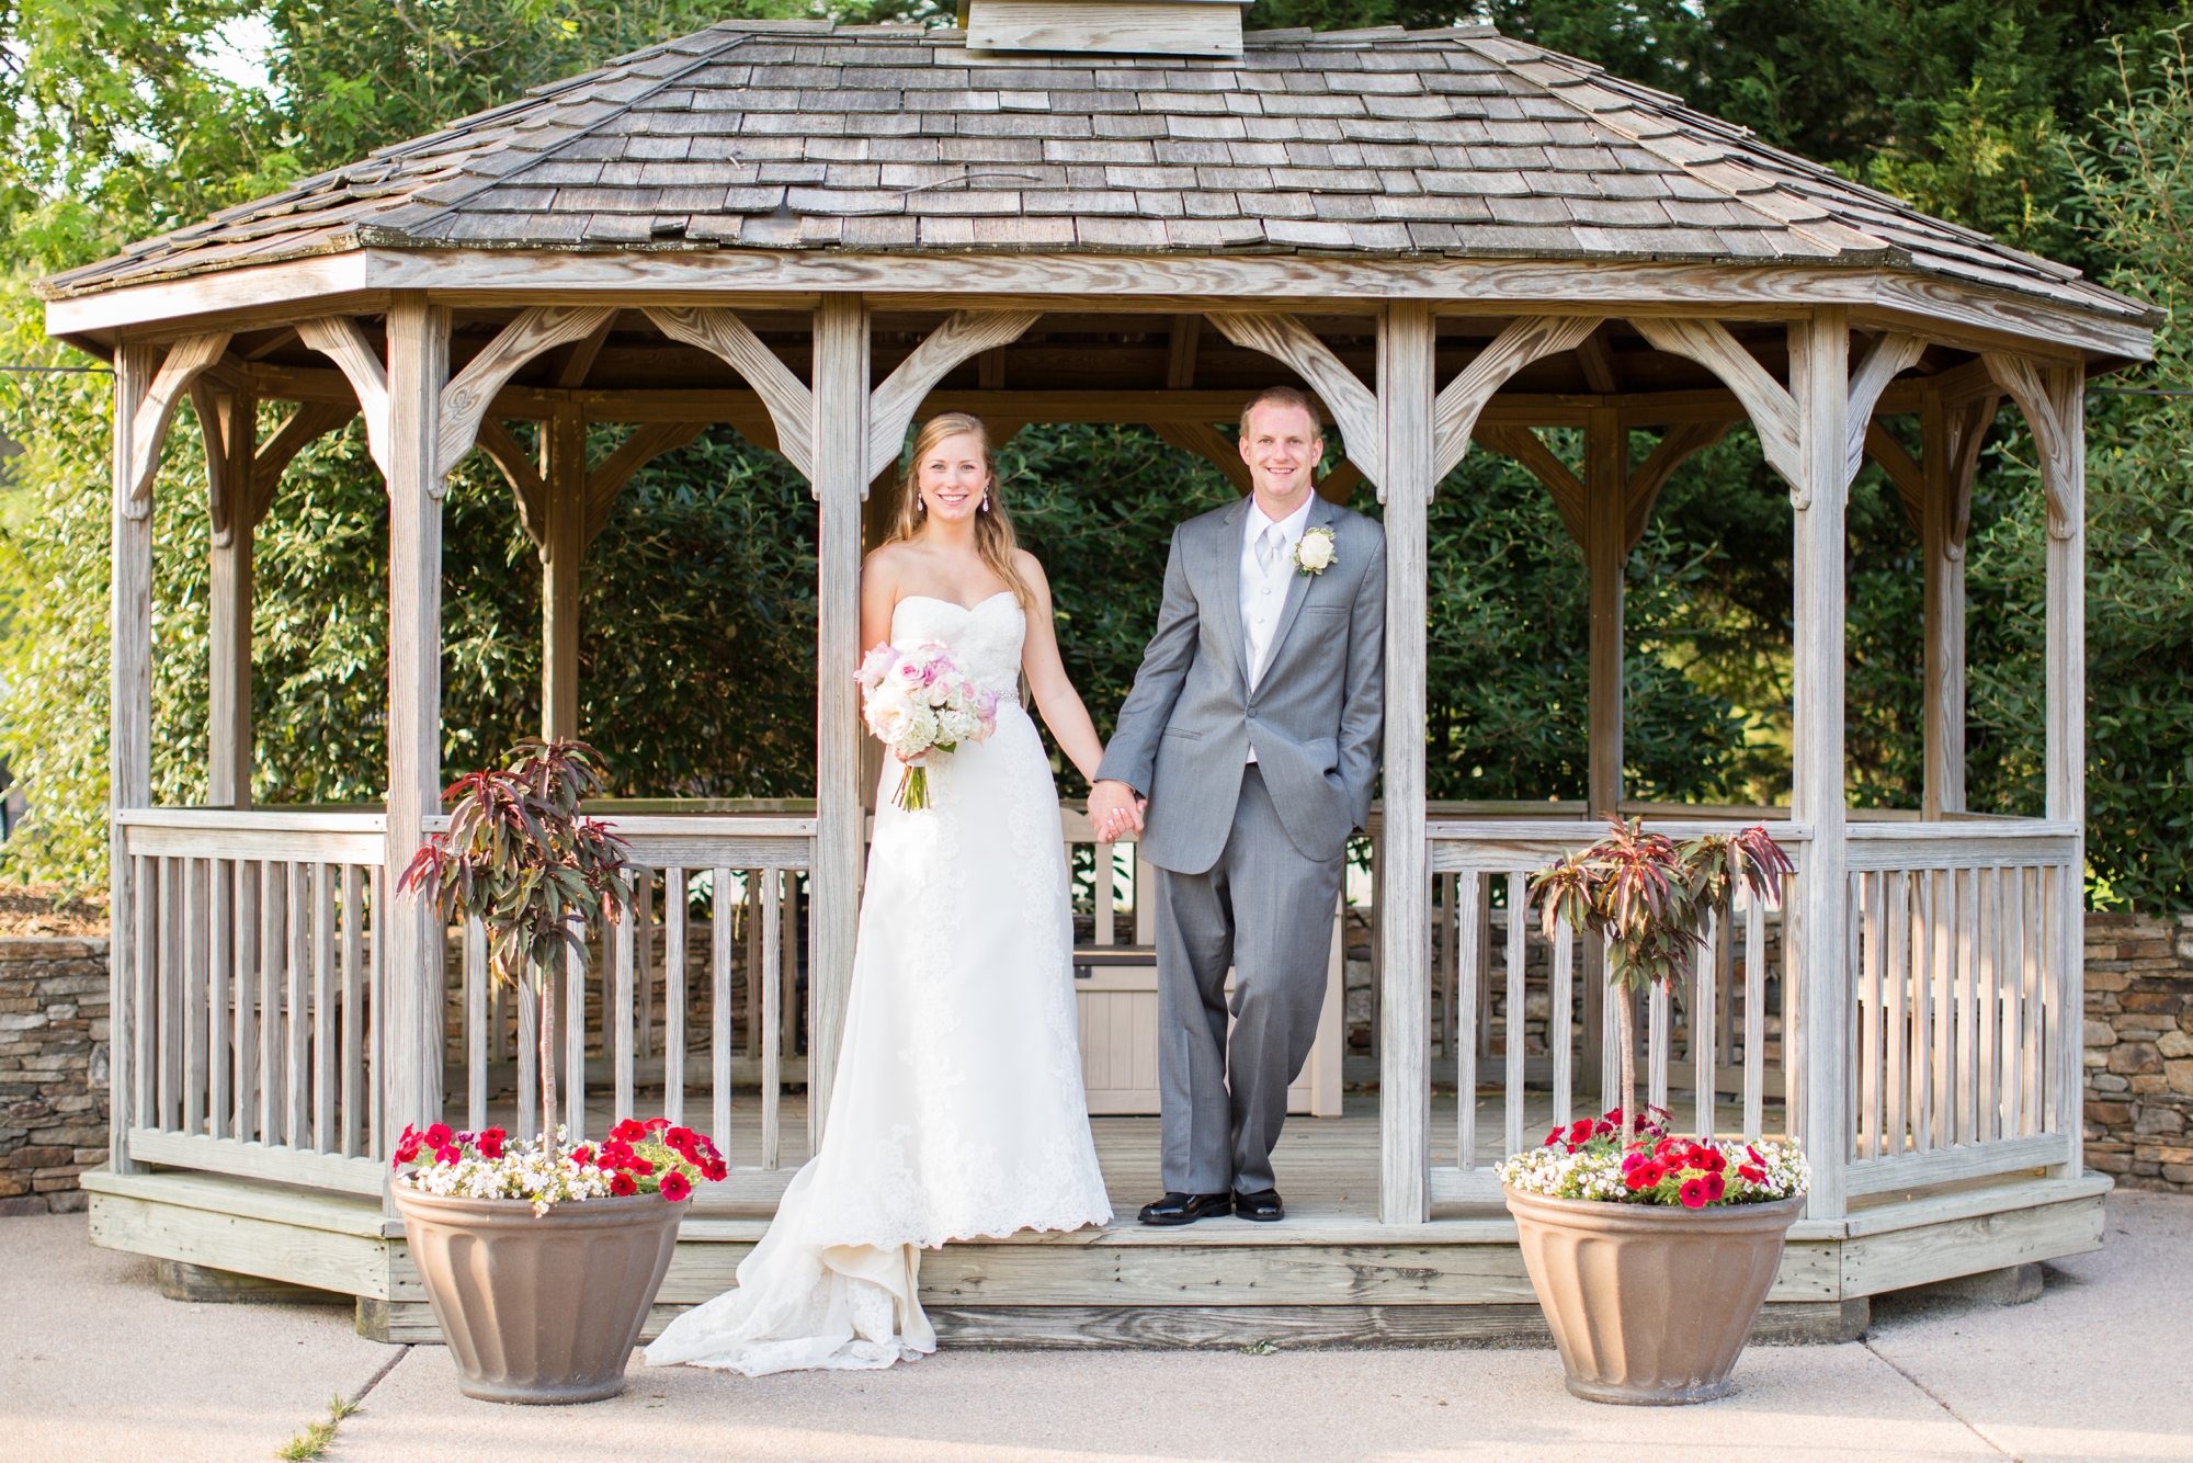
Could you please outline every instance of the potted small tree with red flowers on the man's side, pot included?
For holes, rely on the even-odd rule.
[[[1524,1266],[1568,1391],[1682,1404],[1728,1393],[1809,1171],[1792,1143],[1669,1134],[1636,1101],[1636,996],[1671,994],[1737,886],[1774,901],[1789,873],[1765,827],[1675,844],[1612,820],[1592,847],[1533,875],[1539,919],[1605,941],[1621,1016],[1621,1105],[1500,1165]],[[1515,912],[1522,917],[1522,910]],[[1711,1095],[1704,1099],[1711,1114]]]

